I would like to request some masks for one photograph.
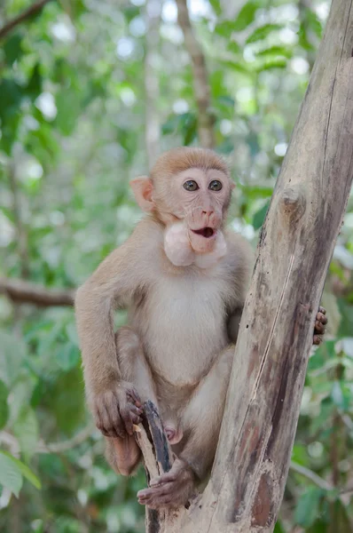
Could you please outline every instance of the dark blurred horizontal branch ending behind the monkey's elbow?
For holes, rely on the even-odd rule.
[[[0,294],[19,304],[73,306],[75,290],[45,289],[35,283],[0,277]]]

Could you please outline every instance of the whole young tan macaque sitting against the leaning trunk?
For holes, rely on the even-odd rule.
[[[234,185],[212,151],[173,149],[131,187],[145,218],[77,291],[75,311],[87,401],[116,472],[141,459],[143,403],[161,414],[176,461],[137,493],[158,509],[184,505],[212,467],[253,259],[225,228]],[[118,307],[129,326],[114,332]],[[320,308],[315,344],[325,324]]]

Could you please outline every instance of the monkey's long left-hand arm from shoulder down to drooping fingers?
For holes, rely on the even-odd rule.
[[[118,367],[114,308],[129,305],[134,291],[143,289],[144,259],[151,253],[145,250],[145,243],[149,245],[148,230],[148,222],[140,222],[129,240],[101,263],[75,298],[86,395],[101,430],[114,425],[116,430],[115,421],[121,417],[117,404],[124,413],[128,404],[138,405],[136,392],[122,382]],[[127,420],[129,423],[129,417]],[[114,432],[109,436],[115,436]]]

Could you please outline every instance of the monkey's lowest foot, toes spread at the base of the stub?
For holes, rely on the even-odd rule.
[[[182,459],[176,459],[167,473],[153,478],[150,488],[137,492],[138,503],[151,509],[185,505],[195,488],[195,476],[191,467]]]

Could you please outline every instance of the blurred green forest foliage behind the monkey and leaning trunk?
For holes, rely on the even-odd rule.
[[[214,146],[227,158],[229,223],[255,247],[330,3],[177,4],[179,20],[173,0],[0,3],[5,532],[144,530],[144,472],[108,468],[85,409],[75,287],[128,237],[141,217],[129,179],[169,147]],[[352,228],[351,197],[276,533],[353,530]]]

